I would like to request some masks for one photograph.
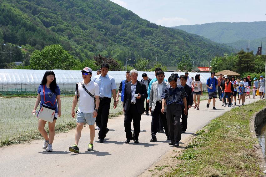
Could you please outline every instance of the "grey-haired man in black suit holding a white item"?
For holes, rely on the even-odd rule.
[[[129,143],[132,139],[134,143],[138,143],[138,135],[140,132],[140,119],[143,112],[144,100],[148,97],[145,84],[139,82],[138,71],[133,69],[130,71],[131,82],[125,84],[123,111],[125,112],[125,132]],[[134,133],[132,136],[131,122],[133,120]]]

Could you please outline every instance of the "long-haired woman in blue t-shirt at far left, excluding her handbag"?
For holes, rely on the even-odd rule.
[[[44,104],[45,102],[51,102],[52,103],[51,105],[50,103],[47,103],[47,104],[49,106],[56,108],[55,116],[53,119],[53,123],[50,123],[50,122],[48,123],[49,137],[47,135],[47,132],[44,129],[46,121],[41,120],[41,119],[38,120],[38,130],[43,136],[43,138],[45,139],[43,149],[48,148],[47,149],[48,152],[52,152],[53,151],[52,144],[53,144],[53,139],[54,139],[54,134],[55,134],[54,127],[55,127],[57,117],[61,116],[60,89],[56,83],[56,78],[55,78],[53,71],[46,71],[43,76],[43,80],[38,88],[38,96],[37,96],[37,100],[35,102],[35,106],[32,111],[32,114],[36,112],[38,104],[40,104],[40,107],[41,107],[42,103]]]

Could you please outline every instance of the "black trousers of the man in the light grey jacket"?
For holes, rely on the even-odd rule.
[[[152,128],[151,128],[152,137],[155,137],[155,135],[157,133],[158,123],[159,123],[158,120],[159,119],[163,123],[165,135],[168,137],[166,113],[164,112],[164,114],[163,114],[161,112],[161,109],[162,109],[162,102],[157,101],[156,106],[155,106],[154,110],[152,111]]]

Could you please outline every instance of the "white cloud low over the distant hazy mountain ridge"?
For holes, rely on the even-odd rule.
[[[156,24],[162,25],[165,27],[173,27],[173,26],[179,26],[179,25],[188,25],[189,21],[186,18],[180,18],[180,17],[171,17],[171,18],[160,18],[156,21]]]

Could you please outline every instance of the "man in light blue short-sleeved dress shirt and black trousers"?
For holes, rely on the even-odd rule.
[[[93,78],[93,82],[98,83],[100,90],[100,105],[98,110],[98,115],[96,117],[96,124],[100,125],[99,137],[100,143],[104,142],[104,138],[108,133],[107,128],[108,116],[111,104],[111,98],[113,94],[113,108],[116,108],[116,85],[115,80],[108,73],[109,65],[103,63],[101,65],[101,74]]]

